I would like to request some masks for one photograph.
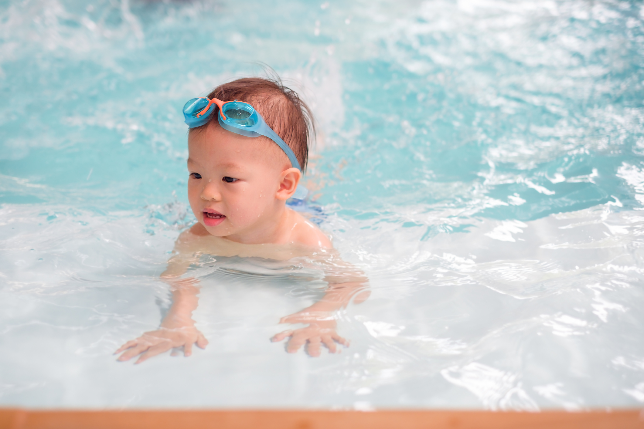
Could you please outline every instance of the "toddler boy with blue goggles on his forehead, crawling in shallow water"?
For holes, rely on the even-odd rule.
[[[308,343],[319,356],[321,345],[336,352],[348,342],[336,332],[332,312],[365,300],[366,278],[346,262],[317,226],[287,207],[307,165],[308,141],[314,134],[312,114],[298,95],[281,82],[243,78],[216,87],[207,98],[184,107],[189,125],[188,199],[197,223],[176,241],[173,257],[162,274],[171,285],[173,304],[159,329],[125,343],[118,360],[138,356],[137,363],[174,347],[190,356],[193,344],[207,340],[194,326],[198,280],[182,278],[202,254],[288,260],[309,257],[325,267],[329,287],[312,306],[286,316],[281,323],[307,327],[279,333],[290,337],[287,351]]]

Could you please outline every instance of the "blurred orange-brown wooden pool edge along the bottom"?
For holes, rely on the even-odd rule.
[[[587,412],[460,410],[28,410],[0,408],[0,429],[630,429],[639,409]]]

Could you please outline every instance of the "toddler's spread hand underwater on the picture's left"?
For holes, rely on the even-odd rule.
[[[194,326],[175,328],[160,327],[156,331],[144,333],[136,340],[128,341],[120,349],[115,351],[114,354],[126,351],[118,357],[120,361],[130,360],[140,354],[141,356],[138,357],[135,363],[141,363],[169,349],[183,346],[184,356],[187,357],[193,353],[194,343],[197,343],[202,349],[205,349],[205,346],[208,344],[208,340],[205,339],[204,334],[200,333]]]

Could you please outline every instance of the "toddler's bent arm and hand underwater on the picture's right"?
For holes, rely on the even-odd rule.
[[[337,334],[333,313],[346,307],[354,297],[356,304],[364,302],[369,297],[370,291],[366,290],[368,278],[364,273],[346,262],[339,262],[327,269],[325,280],[329,286],[321,300],[279,320],[282,324],[309,324],[304,328],[283,331],[272,338],[272,341],[277,342],[290,337],[287,344],[289,353],[297,352],[307,342],[310,356],[319,356],[323,344],[332,353],[337,350],[336,342],[348,347],[348,341]]]

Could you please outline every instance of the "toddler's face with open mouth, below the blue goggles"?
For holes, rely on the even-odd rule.
[[[189,134],[188,152],[188,199],[209,233],[244,242],[279,222],[290,163],[277,145],[209,125]]]

